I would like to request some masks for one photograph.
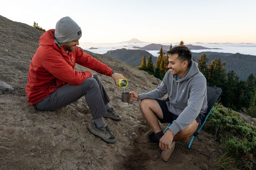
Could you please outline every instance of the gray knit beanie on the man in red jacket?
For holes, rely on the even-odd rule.
[[[69,16],[60,19],[55,27],[54,37],[58,43],[68,43],[82,37],[82,30]]]

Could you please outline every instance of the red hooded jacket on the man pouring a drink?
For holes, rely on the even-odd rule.
[[[37,104],[53,91],[72,84],[77,86],[86,78],[91,78],[89,71],[77,72],[75,64],[82,65],[100,74],[112,75],[112,69],[96,58],[75,47],[74,52],[66,52],[54,43],[54,29],[46,31],[39,39],[40,46],[28,70],[26,94],[31,105]]]

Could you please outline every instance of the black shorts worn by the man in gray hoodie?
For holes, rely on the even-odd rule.
[[[158,120],[161,123],[172,123],[172,121],[175,121],[178,118],[177,115],[174,115],[173,113],[169,112],[169,110],[168,110],[168,107],[166,105],[166,101],[169,101],[169,99],[165,99],[165,100],[156,99],[156,101],[159,104],[159,106],[161,107],[162,112],[163,112],[163,116],[164,116],[163,119],[158,118]],[[198,128],[201,126],[203,118],[204,118],[203,114],[199,114],[196,117],[196,122],[198,123]]]

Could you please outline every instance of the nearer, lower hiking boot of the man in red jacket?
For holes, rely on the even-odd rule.
[[[88,126],[88,130],[92,134],[96,135],[97,137],[99,137],[100,139],[102,139],[107,143],[116,142],[117,138],[114,136],[112,132],[110,132],[110,130],[108,129],[107,123],[105,123],[105,125],[103,125],[101,128],[98,128],[95,123],[92,123]]]

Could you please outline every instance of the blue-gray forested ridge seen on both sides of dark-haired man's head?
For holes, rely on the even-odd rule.
[[[105,53],[105,55],[110,56],[112,58],[115,57],[117,60],[124,61],[133,66],[141,65],[143,53],[145,53],[146,59],[148,59],[148,56],[150,55],[150,53],[146,50],[141,50],[138,53],[134,49],[124,49],[125,48],[123,48],[122,50],[109,50],[107,53]],[[254,55],[245,55],[240,53],[233,54],[219,52],[192,52],[192,57],[197,62],[199,60],[199,57],[203,53],[205,53],[206,57],[209,59],[209,61],[207,62],[208,65],[211,64],[213,60],[216,60],[220,57],[221,63],[223,63],[224,61],[226,62],[227,71],[234,70],[235,73],[238,75],[239,79],[241,80],[247,80],[251,73],[253,73],[254,77],[256,77],[256,56]],[[156,64],[157,57],[154,56],[152,59],[153,63]]]

